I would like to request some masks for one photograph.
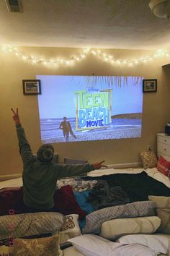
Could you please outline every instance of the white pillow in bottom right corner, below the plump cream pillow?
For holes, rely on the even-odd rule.
[[[143,244],[153,249],[156,254],[169,251],[169,239],[164,234],[132,234],[122,236],[116,240],[122,244]]]

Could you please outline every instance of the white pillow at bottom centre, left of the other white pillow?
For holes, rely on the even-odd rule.
[[[68,242],[86,256],[156,256],[152,249],[143,245],[115,243],[92,234],[77,236]]]

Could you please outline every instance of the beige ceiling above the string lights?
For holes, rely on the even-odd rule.
[[[0,45],[157,49],[170,47],[170,21],[149,0],[22,0],[23,13],[0,1]]]

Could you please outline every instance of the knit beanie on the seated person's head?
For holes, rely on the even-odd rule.
[[[53,159],[54,148],[50,144],[42,145],[39,150],[37,150],[37,159],[41,162],[48,162]]]

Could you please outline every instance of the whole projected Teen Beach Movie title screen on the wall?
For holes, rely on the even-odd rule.
[[[45,76],[38,95],[42,143],[141,136],[143,77]]]

